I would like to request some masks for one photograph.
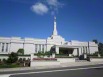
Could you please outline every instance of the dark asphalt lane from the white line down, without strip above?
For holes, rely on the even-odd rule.
[[[31,74],[11,75],[10,77],[103,77],[103,68],[67,70],[67,71],[42,71]]]

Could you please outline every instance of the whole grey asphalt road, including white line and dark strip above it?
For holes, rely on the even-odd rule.
[[[12,72],[10,77],[103,77],[103,65]]]

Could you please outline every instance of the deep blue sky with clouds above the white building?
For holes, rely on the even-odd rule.
[[[103,42],[103,0],[0,0],[0,37],[46,39],[54,16],[66,41]]]

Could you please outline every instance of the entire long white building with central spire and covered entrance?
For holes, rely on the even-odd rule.
[[[80,56],[84,53],[91,54],[98,51],[98,45],[95,42],[65,41],[62,36],[58,35],[56,17],[54,17],[53,33],[47,39],[0,37],[0,54],[17,52],[21,48],[24,49],[24,54],[55,51],[57,54]]]

